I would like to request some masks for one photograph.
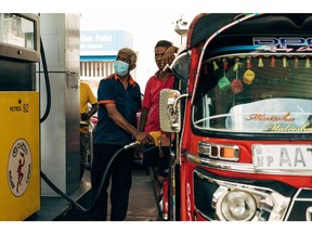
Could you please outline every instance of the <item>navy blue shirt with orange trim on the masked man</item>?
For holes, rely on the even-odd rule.
[[[100,81],[98,89],[98,125],[95,144],[126,145],[134,141],[133,136],[117,126],[108,116],[105,104],[115,103],[117,110],[132,126],[136,127],[136,113],[141,110],[140,86],[130,76],[127,89],[116,74]]]

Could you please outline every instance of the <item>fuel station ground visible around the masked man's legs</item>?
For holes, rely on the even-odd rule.
[[[90,173],[86,170],[79,191],[72,194],[70,198],[77,199],[82,207],[88,208],[90,188]],[[109,211],[107,214],[109,216]],[[158,211],[151,177],[140,164],[134,164],[126,221],[156,221],[157,218]],[[26,221],[88,221],[88,216],[73,208],[73,205],[63,197],[41,197],[40,210]]]

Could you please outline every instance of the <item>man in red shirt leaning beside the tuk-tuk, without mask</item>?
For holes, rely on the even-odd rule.
[[[153,75],[146,83],[142,113],[139,122],[139,130],[145,132],[161,131],[159,122],[159,96],[162,89],[173,88],[173,73],[166,68],[166,65],[173,61],[174,53],[177,53],[178,48],[172,44],[172,42],[167,40],[159,40],[154,49],[155,62],[158,70]],[[166,58],[166,63],[164,63]],[[168,64],[168,65],[169,65]],[[167,177],[166,169],[169,167],[169,139],[162,138],[161,141],[167,142],[167,146],[155,147],[148,151],[146,155],[143,155],[143,164],[146,166],[155,166],[157,171],[157,181],[159,186],[161,186],[165,177]],[[160,152],[159,152],[160,150]],[[160,156],[159,157],[159,153]],[[145,162],[144,162],[145,161]],[[156,188],[156,193],[160,187]]]

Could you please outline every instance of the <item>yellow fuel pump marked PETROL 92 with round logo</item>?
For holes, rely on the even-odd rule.
[[[40,209],[39,17],[0,13],[0,220]]]

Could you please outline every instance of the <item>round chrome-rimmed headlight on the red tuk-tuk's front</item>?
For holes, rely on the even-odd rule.
[[[230,191],[221,202],[221,212],[229,221],[248,221],[257,211],[257,204],[251,194],[244,191]]]

